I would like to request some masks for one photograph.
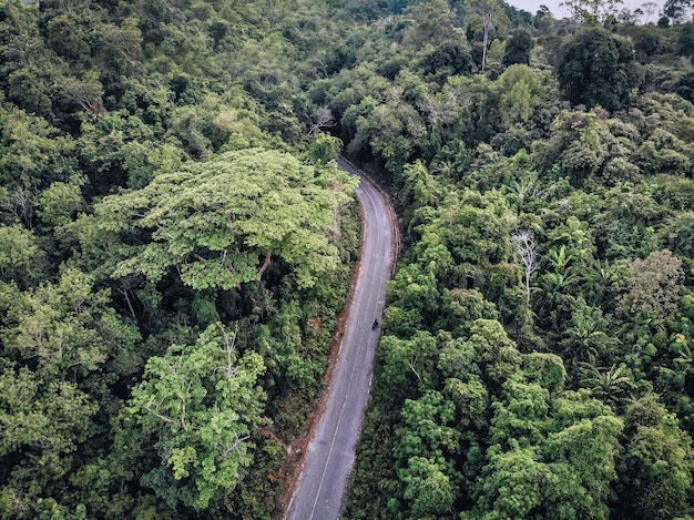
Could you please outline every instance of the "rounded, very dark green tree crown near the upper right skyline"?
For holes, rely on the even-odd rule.
[[[601,28],[583,29],[562,45],[557,78],[574,105],[621,109],[640,82],[633,44]]]

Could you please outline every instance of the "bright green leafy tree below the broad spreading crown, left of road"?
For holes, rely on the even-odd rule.
[[[130,412],[156,439],[165,470],[144,482],[172,507],[181,500],[207,508],[253,462],[249,438],[263,421],[257,378],[265,367],[256,353],[241,354],[235,339],[235,333],[211,325],[195,345],[172,345],[150,358],[133,390]]]

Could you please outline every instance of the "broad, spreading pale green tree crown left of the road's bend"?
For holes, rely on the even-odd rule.
[[[143,190],[106,197],[96,207],[100,226],[136,226],[152,236],[113,275],[143,273],[159,281],[176,267],[191,287],[231,289],[259,278],[264,262],[277,257],[299,287],[315,285],[337,264],[326,234],[336,227],[335,212],[354,183],[335,170],[318,181],[314,174],[285,153],[228,152],[162,174]]]

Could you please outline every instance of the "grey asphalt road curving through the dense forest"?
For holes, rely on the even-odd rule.
[[[390,206],[363,172],[341,157],[338,164],[361,177],[357,187],[364,221],[361,261],[326,409],[308,446],[298,485],[285,514],[288,520],[339,518],[380,336],[380,328],[372,329],[371,324],[377,317],[380,320],[394,259],[392,244],[397,231],[391,227]]]

